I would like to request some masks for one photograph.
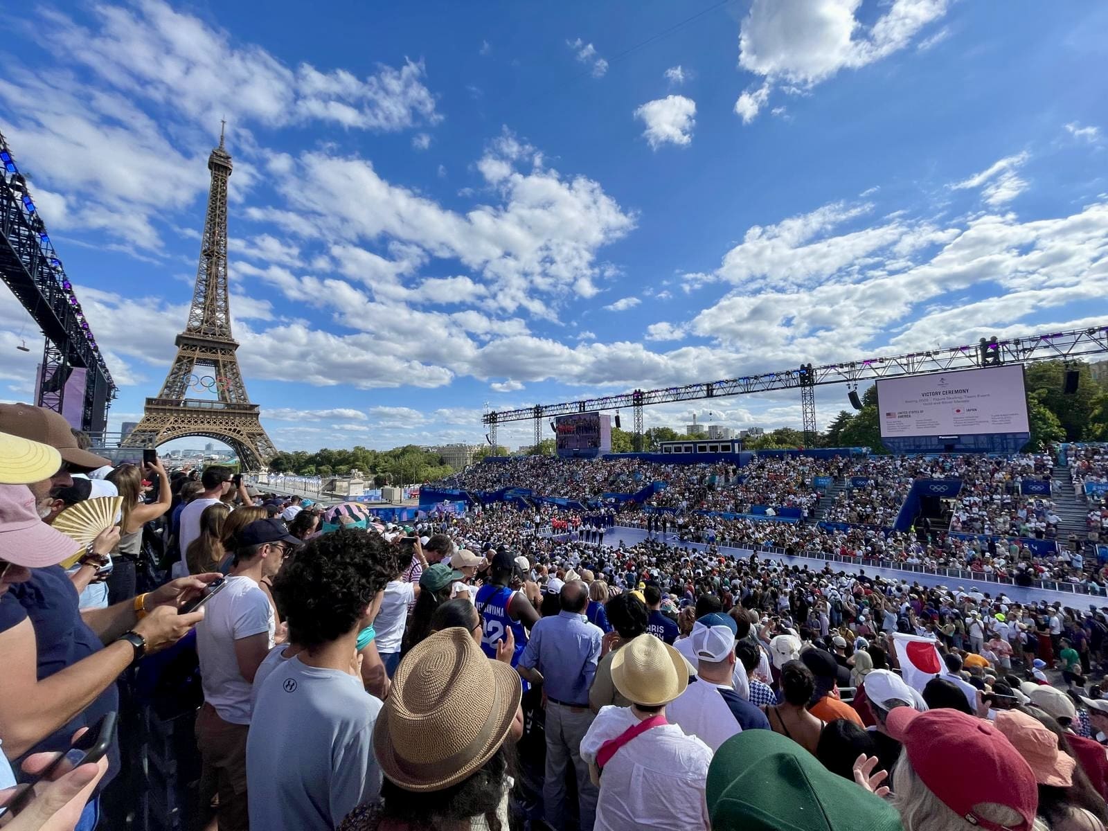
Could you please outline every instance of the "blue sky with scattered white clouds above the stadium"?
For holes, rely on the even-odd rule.
[[[1104,4],[321,9],[4,18],[0,130],[113,428],[184,327],[223,117],[235,336],[283,449],[480,442],[486,406],[1108,317]],[[0,297],[0,399],[32,394],[35,335]],[[844,403],[821,388],[820,424]],[[647,425],[694,411],[800,421],[782,392]]]

